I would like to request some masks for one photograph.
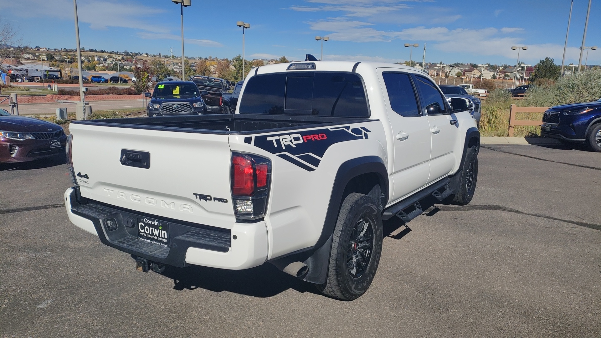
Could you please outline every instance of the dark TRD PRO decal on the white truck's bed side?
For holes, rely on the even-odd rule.
[[[362,140],[367,137],[369,129],[365,127],[334,127],[314,129],[312,131],[290,132],[287,134],[271,134],[246,137],[250,143],[267,152],[285,159],[305,170],[313,171],[319,167],[323,154],[332,144]]]

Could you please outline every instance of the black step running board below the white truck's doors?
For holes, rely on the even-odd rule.
[[[404,200],[389,206],[384,209],[382,220],[389,220],[394,216],[400,218],[404,223],[413,220],[413,218],[418,217],[423,212],[419,200],[423,200],[429,195],[433,195],[438,198],[439,201],[442,201],[453,194],[453,191],[449,187],[449,183],[451,183],[451,180],[448,178],[440,180],[422,191],[418,191]]]

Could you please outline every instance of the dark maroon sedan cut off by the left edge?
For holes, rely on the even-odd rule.
[[[58,124],[0,109],[0,163],[26,162],[65,153],[67,137]]]

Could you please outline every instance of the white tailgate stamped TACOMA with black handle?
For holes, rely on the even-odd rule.
[[[71,124],[70,132],[73,170],[83,197],[231,229],[235,218],[227,134],[78,123]]]

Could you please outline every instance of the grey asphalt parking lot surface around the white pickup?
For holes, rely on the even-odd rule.
[[[487,145],[471,204],[385,224],[352,302],[271,265],[136,272],[67,219],[64,160],[0,167],[2,337],[600,337],[601,153]]]

